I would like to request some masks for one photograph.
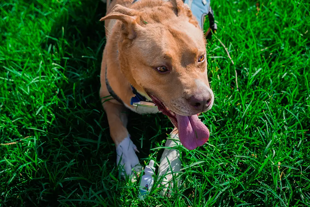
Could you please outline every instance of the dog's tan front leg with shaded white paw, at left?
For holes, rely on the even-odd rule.
[[[139,165],[139,159],[135,152],[139,152],[137,147],[130,139],[127,131],[127,114],[124,106],[114,104],[109,101],[103,103],[104,111],[108,117],[110,127],[110,135],[116,146],[116,162],[121,168],[121,176],[125,178],[131,176],[131,180],[135,181],[135,174],[142,167]],[[125,113],[124,113],[125,112]]]

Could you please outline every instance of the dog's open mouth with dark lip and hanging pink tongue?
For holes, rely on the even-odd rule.
[[[179,130],[179,139],[182,145],[188,150],[194,150],[202,146],[209,139],[209,129],[198,119],[198,115],[183,116],[169,110],[157,97],[148,94],[164,115],[168,116],[171,122]]]

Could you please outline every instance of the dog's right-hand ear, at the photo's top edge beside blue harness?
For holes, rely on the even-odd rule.
[[[196,27],[199,27],[197,20],[193,16],[193,13],[187,4],[184,4],[182,0],[170,0],[172,9],[176,16],[185,15],[189,18],[189,22]]]

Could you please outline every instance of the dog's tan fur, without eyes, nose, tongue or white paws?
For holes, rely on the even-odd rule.
[[[116,145],[128,132],[122,118],[124,108],[116,100],[108,100],[106,68],[113,91],[129,108],[133,108],[130,99],[134,97],[130,84],[146,97],[147,92],[156,96],[180,115],[201,112],[188,104],[193,94],[213,96],[207,60],[197,63],[206,54],[206,40],[188,6],[182,0],[131,2],[113,0],[101,19],[105,21],[107,43],[101,63],[100,97]],[[162,65],[170,73],[158,73],[156,68]]]

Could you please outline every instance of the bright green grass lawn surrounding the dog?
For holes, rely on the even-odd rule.
[[[0,206],[309,206],[310,3],[211,5],[210,140],[181,148],[182,187],[144,204],[138,183],[119,180],[100,104],[105,4],[0,1]],[[172,124],[129,122],[141,164],[158,164]]]

